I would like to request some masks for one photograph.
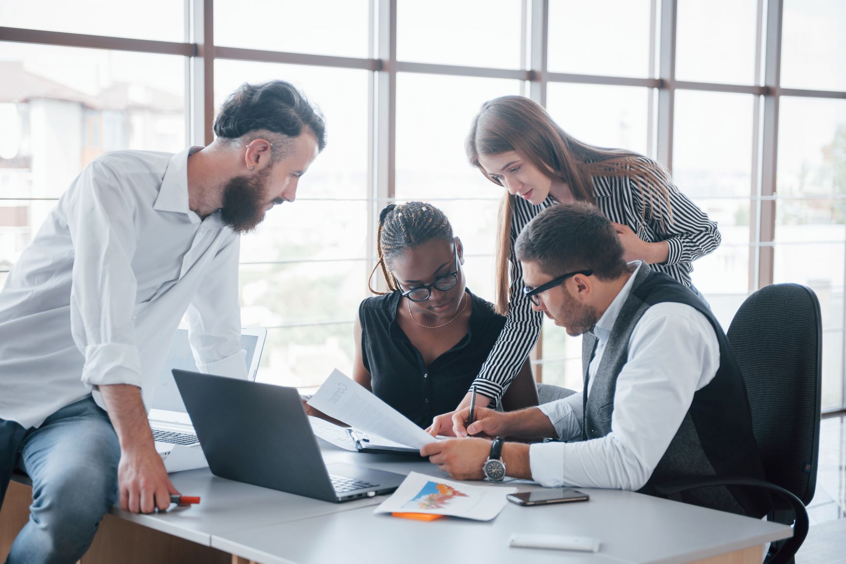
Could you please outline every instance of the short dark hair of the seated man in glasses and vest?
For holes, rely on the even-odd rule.
[[[552,278],[590,269],[601,280],[626,271],[623,244],[595,205],[552,205],[532,219],[517,237],[517,260],[536,262]]]

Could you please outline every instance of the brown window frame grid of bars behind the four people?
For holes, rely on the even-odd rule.
[[[674,97],[677,90],[738,92],[754,96],[752,181],[750,183],[750,271],[749,292],[773,281],[775,245],[779,101],[782,96],[846,100],[846,91],[782,88],[780,85],[783,0],[757,0],[755,25],[755,81],[752,85],[681,81],[675,78],[676,22],[678,0],[651,0],[649,78],[551,73],[547,69],[549,0],[515,0],[521,3],[522,68],[476,68],[434,63],[411,63],[397,59],[397,0],[369,0],[369,56],[335,57],[299,52],[276,52],[239,47],[217,47],[214,43],[214,1],[184,0],[185,41],[151,41],[113,36],[90,36],[66,32],[0,27],[0,41],[16,41],[63,47],[86,47],[186,57],[186,138],[191,144],[206,145],[214,106],[214,62],[216,59],[316,65],[328,68],[358,68],[370,72],[368,91],[368,197],[367,255],[354,260],[376,261],[376,217],[383,205],[395,200],[395,157],[397,126],[397,73],[448,74],[470,77],[517,79],[526,96],[546,106],[547,85],[640,86],[649,89],[648,156],[673,170]],[[809,196],[810,198],[814,196]],[[832,194],[832,199],[846,198]],[[747,200],[744,196],[739,199]],[[789,196],[796,199],[796,196]],[[725,196],[719,197],[726,200]],[[782,199],[785,199],[782,197]],[[0,200],[27,200],[4,198]],[[305,198],[304,200],[308,200]],[[320,200],[320,199],[316,199]],[[351,199],[352,200],[352,199]],[[434,199],[439,200],[439,199]],[[453,200],[453,199],[440,199]],[[462,200],[456,198],[454,200]],[[496,200],[493,199],[492,200]],[[349,259],[347,259],[349,260]],[[287,262],[287,261],[286,261]],[[303,260],[302,262],[307,262]],[[377,282],[383,283],[383,282]],[[365,292],[363,284],[362,292]],[[348,323],[349,320],[325,320]],[[294,324],[296,325],[296,324]],[[843,337],[846,337],[844,333]],[[846,350],[846,347],[844,347]],[[531,355],[536,379],[542,381],[543,364],[565,357],[545,359],[542,339]],[[569,357],[566,357],[569,359]],[[844,375],[846,377],[846,375]],[[846,388],[846,386],[843,386]],[[846,413],[846,392],[839,408],[828,414]]]

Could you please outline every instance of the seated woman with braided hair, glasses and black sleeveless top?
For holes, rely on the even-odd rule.
[[[420,425],[454,408],[491,352],[505,317],[470,292],[464,248],[447,216],[421,202],[379,214],[379,262],[388,292],[365,299],[355,320],[353,377]],[[369,283],[370,283],[369,282]],[[503,408],[537,405],[529,361]]]

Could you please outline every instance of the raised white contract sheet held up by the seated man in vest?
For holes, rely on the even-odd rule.
[[[436,439],[402,413],[383,402],[339,370],[332,371],[323,386],[308,401],[329,417],[355,430],[379,435],[400,445],[420,448]],[[318,435],[319,436],[319,435]]]

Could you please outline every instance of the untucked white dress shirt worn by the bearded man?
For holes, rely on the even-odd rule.
[[[189,209],[187,161],[119,151],[80,173],[0,290],[0,419],[25,428],[131,384],[149,406],[179,320],[204,372],[246,377],[239,237]]]

